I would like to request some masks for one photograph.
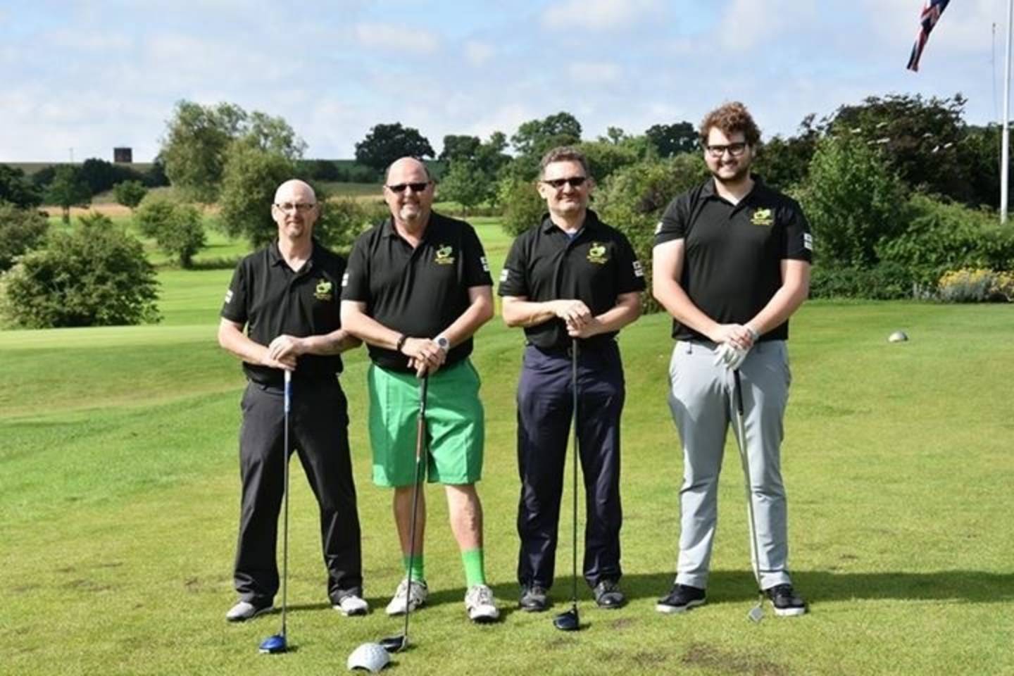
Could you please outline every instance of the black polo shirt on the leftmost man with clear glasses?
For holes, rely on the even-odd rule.
[[[341,328],[340,285],[345,259],[315,239],[309,259],[293,271],[278,250],[278,240],[236,266],[225,294],[221,316],[246,325],[246,334],[269,345],[283,333],[305,337]],[[246,377],[263,385],[281,386],[280,369],[243,362]],[[334,378],[342,372],[339,355],[302,355],[293,380]]]

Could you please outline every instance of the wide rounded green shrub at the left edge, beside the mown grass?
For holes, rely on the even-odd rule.
[[[0,278],[5,318],[24,328],[157,321],[157,284],[141,242],[100,214],[51,232]]]

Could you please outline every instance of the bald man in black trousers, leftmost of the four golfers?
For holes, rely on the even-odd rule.
[[[242,481],[234,584],[226,613],[243,621],[270,610],[278,591],[276,540],[284,492],[283,372],[292,372],[291,448],[298,449],[320,508],[328,595],[336,610],[362,615],[362,555],[349,418],[339,384],[341,353],[359,339],[342,328],[345,260],[313,238],[313,190],[288,180],[275,193],[278,238],[239,261],[225,294],[218,343],[243,362],[239,473]],[[245,328],[245,331],[244,331]]]

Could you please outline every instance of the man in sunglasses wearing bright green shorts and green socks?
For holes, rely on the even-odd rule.
[[[417,159],[404,157],[387,169],[383,195],[390,218],[352,247],[342,323],[369,346],[373,481],[394,489],[394,523],[407,574],[387,614],[415,610],[429,591],[422,491],[416,541],[411,541],[420,379],[428,377],[426,473],[430,481],[444,484],[464,567],[465,611],[473,621],[488,622],[499,617],[499,610],[483,561],[483,508],[476,482],[483,469],[485,427],[479,375],[468,355],[473,333],[493,316],[493,280],[473,227],[432,211],[433,190],[426,165]]]

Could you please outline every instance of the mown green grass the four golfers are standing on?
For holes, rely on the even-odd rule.
[[[509,239],[495,222],[474,221],[496,269]],[[242,378],[214,333],[230,274],[162,271],[159,326],[0,332],[4,673],[337,673],[357,645],[401,630],[382,611],[401,569],[389,494],[369,481],[363,351],[347,359],[343,380],[373,612],[344,618],[327,604],[314,503],[294,463],[289,637],[297,650],[258,655],[278,615],[224,621],[234,599]],[[888,345],[896,328],[912,341]],[[442,495],[430,486],[431,605],[413,616],[415,646],[391,673],[1014,673],[1012,329],[1010,306],[804,306],[793,320],[783,466],[794,577],[811,614],[769,612],[753,624],[731,443],[709,602],[683,616],[654,610],[673,575],[681,461],[665,404],[668,321],[642,318],[622,341],[631,603],[597,610],[582,583],[585,628],[561,633],[551,617],[566,607],[569,535],[558,552],[555,609],[514,609],[521,335],[495,319],[475,361],[488,427],[488,574],[504,620],[465,619],[460,561]],[[568,534],[569,516],[561,526]]]

